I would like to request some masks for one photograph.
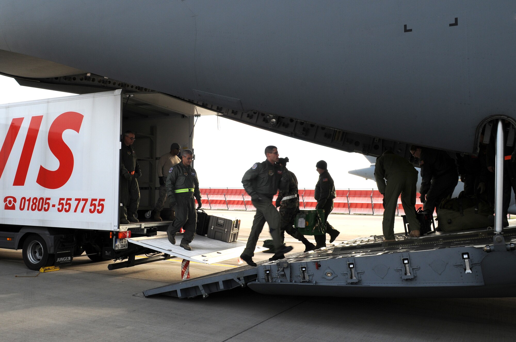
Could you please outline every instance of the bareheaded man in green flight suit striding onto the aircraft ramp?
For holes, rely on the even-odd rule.
[[[280,213],[272,205],[272,197],[278,192],[283,174],[283,168],[276,164],[279,160],[279,154],[276,146],[267,146],[265,148],[267,160],[255,163],[242,178],[244,189],[251,196],[253,206],[256,208],[246,248],[240,255],[240,258],[250,266],[256,266],[252,258],[265,222],[269,225],[270,235],[272,235],[274,248],[278,255],[288,253],[293,249],[292,246],[283,245],[280,231]]]

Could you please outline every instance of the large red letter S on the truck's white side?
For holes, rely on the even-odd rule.
[[[40,166],[36,182],[46,189],[58,189],[68,182],[73,171],[73,153],[63,141],[62,134],[67,129],[77,133],[83,123],[84,115],[77,112],[65,112],[55,118],[49,129],[49,148],[59,161],[56,170],[49,170]]]

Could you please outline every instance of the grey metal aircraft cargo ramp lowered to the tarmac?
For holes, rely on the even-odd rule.
[[[398,234],[350,240],[308,253],[259,262],[149,289],[146,297],[189,298],[249,286],[263,294],[335,297],[513,297],[516,227]]]

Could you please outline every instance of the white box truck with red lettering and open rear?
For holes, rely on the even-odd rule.
[[[0,248],[22,249],[34,270],[69,264],[84,251],[93,261],[134,264],[148,249],[127,244],[128,235],[155,235],[169,222],[119,224],[121,134],[136,135],[138,213],[149,217],[157,159],[171,143],[192,149],[197,113],[162,93],[121,90],[1,105]]]

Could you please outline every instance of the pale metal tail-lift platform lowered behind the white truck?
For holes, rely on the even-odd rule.
[[[177,258],[208,265],[224,260],[238,258],[246,247],[246,243],[241,241],[227,243],[213,240],[212,238],[208,238],[202,235],[197,235],[191,242],[191,251],[187,251],[186,249],[180,247],[179,239],[175,245],[172,245],[168,241],[166,234],[132,237],[128,238],[127,241],[142,247],[156,250],[158,252],[172,255]],[[254,252],[262,252],[267,249],[268,248],[256,246]]]

